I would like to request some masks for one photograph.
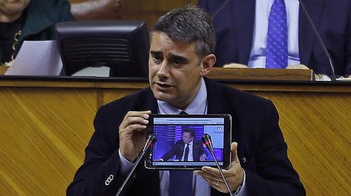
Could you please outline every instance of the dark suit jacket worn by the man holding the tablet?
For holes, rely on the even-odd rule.
[[[232,141],[246,173],[248,195],[305,195],[299,175],[288,160],[287,145],[278,125],[277,110],[267,99],[244,93],[206,79],[208,114],[231,114]],[[120,173],[118,126],[129,110],[157,113],[157,101],[150,88],[140,90],[105,106],[95,117],[95,132],[85,149],[85,160],[67,188],[67,195],[116,195],[125,180]],[[113,180],[107,182],[107,177]],[[143,164],[131,182],[127,195],[160,195],[158,171]],[[213,188],[211,195],[227,195]]]

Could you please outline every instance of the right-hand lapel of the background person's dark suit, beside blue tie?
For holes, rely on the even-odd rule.
[[[324,1],[325,0],[303,1],[306,5],[306,10],[310,14],[317,29],[319,29],[319,21],[324,8]],[[301,5],[299,9],[299,56],[301,64],[308,66],[313,46],[317,40],[316,34],[308,22],[307,16],[304,13],[304,10],[302,10]]]

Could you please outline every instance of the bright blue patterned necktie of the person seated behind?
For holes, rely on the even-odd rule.
[[[284,0],[270,8],[266,47],[266,68],[286,69],[288,65],[288,22]]]

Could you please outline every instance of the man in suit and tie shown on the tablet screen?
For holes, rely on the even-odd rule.
[[[192,129],[182,130],[182,139],[166,153],[161,161],[167,161],[175,156],[174,160],[180,161],[205,161],[206,152],[200,140],[194,140],[195,132]]]

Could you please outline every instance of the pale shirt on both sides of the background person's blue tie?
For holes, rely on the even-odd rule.
[[[256,0],[253,47],[248,67],[266,68],[268,18],[274,0]],[[299,1],[285,0],[288,19],[288,65],[300,64],[299,58]]]

